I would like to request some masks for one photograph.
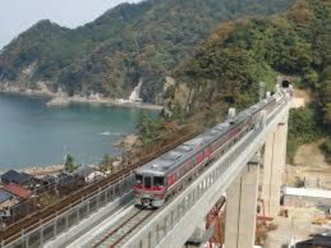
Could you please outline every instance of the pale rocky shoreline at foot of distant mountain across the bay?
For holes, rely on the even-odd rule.
[[[1,94],[8,95],[17,95],[24,97],[37,97],[44,98],[48,100],[46,105],[48,107],[67,107],[72,104],[89,104],[94,106],[108,106],[108,107],[126,107],[126,108],[140,108],[152,111],[162,111],[163,106],[148,104],[148,103],[140,103],[140,102],[129,102],[128,100],[123,99],[111,99],[104,97],[81,97],[81,96],[73,96],[68,97],[63,95],[62,93],[52,93],[49,91],[33,91],[33,90],[25,90],[22,91],[18,88],[13,89],[1,89]]]

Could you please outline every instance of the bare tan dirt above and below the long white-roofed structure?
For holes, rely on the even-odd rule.
[[[321,187],[331,190],[331,164],[325,159],[319,146],[324,142],[305,144],[299,147],[294,158],[294,165],[287,165],[283,173],[283,184],[297,186],[298,179],[306,180],[307,187]],[[276,231],[268,234],[265,248],[284,248],[294,239],[296,242],[310,239],[310,235],[319,230],[331,229],[331,221],[323,225],[316,225],[316,220],[326,220],[325,212],[317,208],[288,209],[288,218],[278,216],[273,221],[278,226]]]

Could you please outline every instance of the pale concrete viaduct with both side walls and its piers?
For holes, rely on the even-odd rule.
[[[258,186],[265,213],[280,210],[281,171],[285,167],[291,99],[282,102],[264,122],[211,164],[180,195],[122,246],[125,248],[181,248],[205,223],[206,215],[226,194],[225,248],[253,248]],[[260,169],[263,168],[263,173]],[[263,174],[263,176],[261,176]],[[68,247],[92,227],[133,199],[134,175],[109,185],[65,213],[1,247]],[[90,216],[90,217],[89,217]],[[33,244],[30,245],[30,244]],[[84,246],[81,246],[84,247]]]

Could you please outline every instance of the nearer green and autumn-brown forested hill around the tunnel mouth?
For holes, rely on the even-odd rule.
[[[330,1],[296,0],[281,14],[224,23],[172,74],[168,111],[180,118],[242,109],[258,101],[260,81],[272,90],[279,74],[292,76],[314,99],[309,108],[291,111],[293,155],[298,144],[323,131],[331,135]],[[325,148],[331,153],[330,139]]]

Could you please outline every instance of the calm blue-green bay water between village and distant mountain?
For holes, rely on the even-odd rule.
[[[104,153],[120,152],[112,144],[135,131],[144,111],[89,105],[48,108],[45,101],[0,94],[0,171],[59,164],[65,153],[77,163],[100,161]]]

